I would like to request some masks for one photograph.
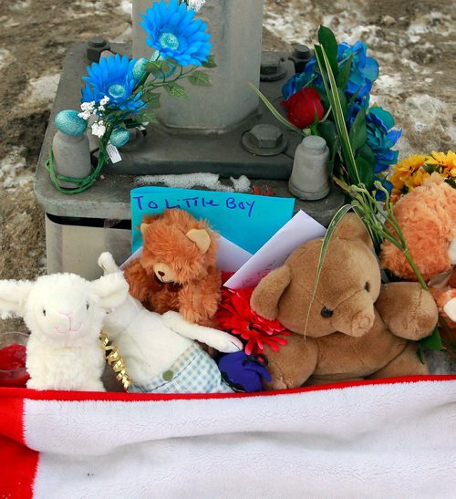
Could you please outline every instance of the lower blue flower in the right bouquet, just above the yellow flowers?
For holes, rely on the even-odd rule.
[[[399,140],[402,131],[391,130],[394,127],[393,117],[388,111],[378,106],[368,110],[366,126],[368,129],[367,144],[376,159],[374,172],[384,172],[391,164],[398,162],[399,151],[392,151],[391,148]]]

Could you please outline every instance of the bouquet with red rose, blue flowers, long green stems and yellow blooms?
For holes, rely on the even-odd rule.
[[[409,253],[393,211],[394,198],[391,200],[390,197],[392,183],[388,180],[389,168],[397,163],[399,155],[398,151],[392,151],[391,148],[399,140],[401,132],[393,130],[394,120],[387,110],[378,106],[369,107],[370,89],[378,78],[378,63],[367,56],[367,47],[362,42],[354,46],[345,43],[337,45],[336,37],[326,26],[320,26],[318,41],[314,46],[315,59],[306,65],[303,73],[287,81],[283,88],[288,119],[254,88],[275,117],[288,128],[303,136],[320,135],[326,140],[333,161],[334,182],[347,193],[349,202],[339,209],[326,231],[316,272],[314,296],[327,244],[338,222],[350,210],[357,213],[365,224],[376,251],[379,252],[382,242],[387,240],[398,247],[416,275],[416,280],[429,291],[428,284]],[[435,170],[443,175],[450,172],[447,182],[454,182],[453,161],[454,154],[451,151],[447,155],[433,153],[424,158],[423,169],[429,172]],[[408,173],[409,166],[405,166]],[[392,182],[395,180],[393,174]],[[382,199],[383,203],[378,203],[378,199]],[[439,324],[448,330],[444,317],[440,316]],[[436,327],[428,338],[420,341],[418,355],[422,360],[423,348],[447,348],[454,353],[456,341],[452,337],[441,338]]]

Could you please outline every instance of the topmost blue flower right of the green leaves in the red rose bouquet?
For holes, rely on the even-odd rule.
[[[366,55],[368,46],[358,41],[354,46],[341,43],[337,46],[337,62],[343,62],[352,57],[350,76],[348,78],[345,92],[354,95],[358,92],[359,97],[370,93],[372,83],[378,78],[378,62],[373,57]],[[344,65],[341,66],[343,68]]]

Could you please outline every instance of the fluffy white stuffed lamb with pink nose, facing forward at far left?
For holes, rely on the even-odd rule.
[[[24,317],[27,387],[104,391],[105,357],[99,340],[106,310],[118,307],[129,286],[121,275],[89,282],[75,274],[0,281],[0,312]]]

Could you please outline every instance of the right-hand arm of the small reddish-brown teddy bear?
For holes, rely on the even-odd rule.
[[[186,284],[179,292],[179,311],[189,322],[209,325],[220,301],[220,271],[209,269],[203,279]]]

